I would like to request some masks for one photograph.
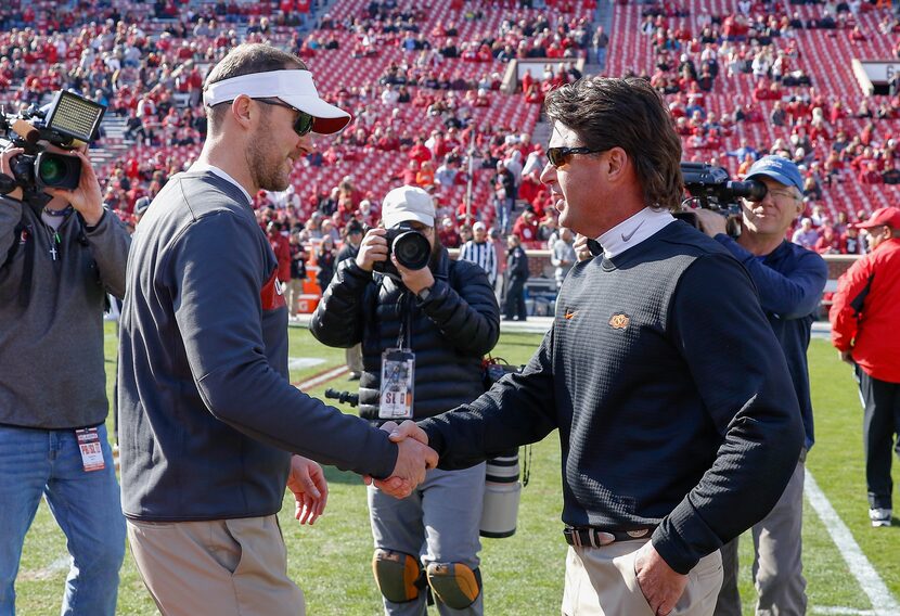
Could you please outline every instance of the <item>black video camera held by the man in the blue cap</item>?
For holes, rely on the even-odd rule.
[[[706,163],[682,163],[681,177],[684,190],[691,196],[681,203],[682,211],[677,213],[676,218],[698,228],[697,217],[691,211],[690,206],[699,205],[704,209],[728,217],[728,233],[733,238],[741,234],[741,226],[737,222],[741,204],[737,200],[762,201],[768,192],[766,184],[759,180],[732,180],[727,169]]]

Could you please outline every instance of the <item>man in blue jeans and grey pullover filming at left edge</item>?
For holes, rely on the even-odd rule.
[[[39,143],[48,151],[68,154]],[[24,151],[0,154],[0,172]],[[106,293],[125,293],[130,238],[102,206],[85,150],[77,189],[0,197],[0,614],[15,612],[41,496],[67,539],[63,614],[112,615],[125,519],[106,439]],[[79,448],[79,444],[81,447]],[[93,451],[91,451],[93,450]]]

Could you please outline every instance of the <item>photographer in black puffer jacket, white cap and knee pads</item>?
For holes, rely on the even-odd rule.
[[[497,344],[500,309],[485,271],[450,259],[437,242],[428,193],[413,187],[390,191],[382,217],[387,229],[406,222],[425,235],[430,262],[409,270],[391,256],[401,280],[373,275],[375,264],[387,260],[388,245],[386,229],[371,229],[356,259],[337,268],[310,331],[333,347],[362,343],[360,414],[378,423],[391,416],[387,397],[396,389],[382,383],[390,365],[388,349],[414,356],[414,376],[398,382],[409,396],[414,393],[411,416],[424,419],[484,393],[481,356]],[[369,488],[373,567],[386,614],[425,614],[426,580],[441,615],[483,613],[478,526],[484,489],[484,463],[428,471],[419,489],[400,501]]]

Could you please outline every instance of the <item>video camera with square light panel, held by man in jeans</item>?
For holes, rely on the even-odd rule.
[[[90,143],[105,111],[99,103],[60,91],[49,107],[31,105],[17,115],[0,114],[0,151],[11,147],[25,151],[10,161],[12,177],[0,174],[0,194],[21,188],[23,198],[30,201],[46,188],[78,188],[81,161],[49,152],[46,143],[67,150]]]

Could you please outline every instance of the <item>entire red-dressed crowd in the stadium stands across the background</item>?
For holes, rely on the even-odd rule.
[[[481,221],[501,241],[513,234],[527,248],[553,251],[560,230],[552,197],[539,180],[544,158],[531,142],[532,126],[492,124],[485,113],[507,98],[500,90],[505,63],[513,59],[605,64],[607,47],[615,50],[610,36],[615,41],[619,35],[591,25],[594,0],[451,0],[442,18],[414,2],[372,1],[350,4],[351,11],[317,4],[4,3],[0,99],[27,105],[73,89],[123,118],[124,141],[101,136],[99,145],[118,154],[101,177],[106,205],[128,220],[138,200],[152,198],[200,152],[206,134],[203,79],[228,49],[266,40],[310,63],[350,55],[373,62],[368,66],[377,73],[360,85],[334,77],[320,90],[353,113],[352,124],[298,166],[288,191],[256,195],[263,228],[277,223],[295,245],[308,243],[304,249],[310,256],[321,249],[333,254],[352,221],[377,223],[383,195],[369,185],[371,177],[350,171],[330,183],[318,181],[319,170],[389,161],[384,167],[389,183],[434,194],[446,245],[463,245]],[[623,73],[648,79],[667,98],[686,159],[725,166],[738,177],[767,153],[798,163],[808,211],[797,241],[822,253],[861,252],[864,242],[847,213],[822,213],[823,194],[841,184],[900,183],[890,121],[900,114],[900,77],[887,97],[827,91],[810,74],[798,34],[834,29],[862,43],[900,30],[900,24],[873,2],[794,4],[800,3],[742,0],[723,14],[692,12],[691,2],[643,5],[640,33],[651,62]],[[860,15],[867,13],[877,15],[877,31],[863,27]],[[895,52],[900,57],[900,44]],[[538,108],[547,91],[580,76],[574,62],[528,69],[516,104]],[[736,79],[751,81],[746,99],[729,95]],[[428,124],[411,123],[413,117]],[[849,120],[865,124],[856,131]],[[742,130],[748,125],[770,126],[784,137],[750,143]],[[321,259],[326,266],[329,257]]]

